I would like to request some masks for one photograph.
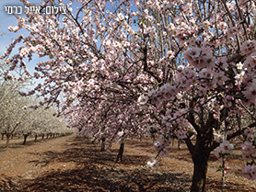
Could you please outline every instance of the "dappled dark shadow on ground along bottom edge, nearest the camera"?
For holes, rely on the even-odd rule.
[[[183,182],[181,175],[148,174],[140,171],[99,169],[95,165],[83,169],[52,172],[27,185],[19,191],[186,191],[176,187],[175,183]]]

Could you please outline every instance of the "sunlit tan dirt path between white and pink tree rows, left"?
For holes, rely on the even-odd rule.
[[[73,134],[49,140],[39,140],[32,142],[32,144],[29,143],[31,141],[28,141],[29,146],[12,145],[13,141],[10,141],[10,147],[0,148],[0,178],[1,175],[8,175],[12,178],[35,178],[49,167],[42,168],[41,164],[31,163],[40,162],[41,153],[43,152],[64,152],[65,145],[68,141],[73,141],[74,138],[75,135]],[[17,141],[15,144],[17,144]],[[47,164],[47,162],[44,164]]]

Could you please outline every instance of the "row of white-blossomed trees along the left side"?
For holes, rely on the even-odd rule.
[[[19,91],[24,83],[1,80],[0,82],[0,133],[6,137],[6,146],[14,136],[23,136],[23,144],[29,136],[45,138],[72,132],[62,118],[57,118],[53,107],[38,105],[39,100],[33,96],[20,96]]]

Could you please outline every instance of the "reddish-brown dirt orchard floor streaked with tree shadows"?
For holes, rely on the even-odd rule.
[[[44,140],[0,141],[0,191],[88,191],[88,192],[167,192],[189,191],[192,183],[192,160],[184,144],[169,147],[169,156],[159,159],[155,170],[145,164],[156,156],[152,141],[127,140],[123,161],[115,164],[118,144],[111,152],[99,152],[99,144],[76,135]],[[226,191],[256,191],[256,182],[241,175],[245,161],[235,150],[227,165]],[[221,163],[211,156],[206,191],[221,191]]]

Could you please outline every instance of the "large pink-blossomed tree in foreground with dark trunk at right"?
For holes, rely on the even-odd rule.
[[[72,3],[41,3],[42,9],[60,3],[67,7],[65,15],[17,16],[17,26],[9,29],[26,28],[29,36],[19,36],[2,56],[24,43],[7,59],[6,78],[18,66],[44,78],[28,94],[40,93],[45,103],[69,111],[84,133],[104,132],[111,141],[119,135],[117,127],[133,119],[138,127],[145,121],[157,126],[154,146],[163,154],[170,137],[184,140],[194,164],[192,191],[204,191],[210,153],[216,149],[215,155],[225,159],[233,148],[230,139],[244,134],[242,149],[250,158],[244,174],[255,178],[254,0],[77,2],[76,11]],[[24,58],[35,55],[46,62],[29,74]],[[241,119],[245,114],[249,118]]]

